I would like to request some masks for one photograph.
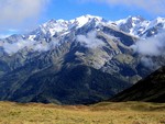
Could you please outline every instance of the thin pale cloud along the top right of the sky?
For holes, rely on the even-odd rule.
[[[100,2],[109,5],[123,4],[129,8],[141,8],[150,13],[164,14],[165,0],[79,0],[80,2]]]

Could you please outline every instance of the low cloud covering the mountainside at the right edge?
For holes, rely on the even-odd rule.
[[[161,59],[164,59],[165,56],[165,33],[161,33],[146,40],[141,40],[131,47],[135,53],[142,55],[141,63],[145,67],[156,69],[162,66],[163,63],[155,58],[160,57]]]

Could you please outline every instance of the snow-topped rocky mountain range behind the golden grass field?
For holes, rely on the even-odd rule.
[[[82,15],[50,20],[30,33],[0,40],[0,100],[58,104],[109,100],[164,65],[163,54],[150,56],[134,48],[164,31],[164,18],[107,21]]]

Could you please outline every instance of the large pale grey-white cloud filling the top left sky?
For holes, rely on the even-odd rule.
[[[34,22],[50,0],[0,0],[0,30]]]

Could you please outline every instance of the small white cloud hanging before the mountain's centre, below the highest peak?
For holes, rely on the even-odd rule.
[[[101,40],[97,38],[97,32],[95,31],[89,32],[87,35],[78,35],[77,41],[89,48],[97,48],[105,45]]]

